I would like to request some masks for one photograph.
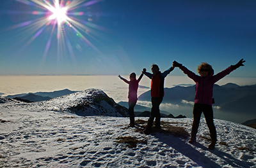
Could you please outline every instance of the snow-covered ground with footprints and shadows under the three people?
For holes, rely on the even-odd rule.
[[[256,130],[250,127],[214,120],[218,144],[208,150],[204,119],[192,145],[191,118],[162,118],[164,131],[145,135],[148,118],[128,128],[127,117],[56,110],[63,99],[0,103],[0,167],[256,167]]]

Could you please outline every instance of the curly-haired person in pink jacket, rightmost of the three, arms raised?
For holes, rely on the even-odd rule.
[[[204,113],[205,121],[207,123],[207,127],[210,131],[211,136],[211,144],[209,144],[208,148],[213,150],[217,141],[217,133],[216,127],[213,122],[213,111],[212,111],[212,88],[214,83],[218,80],[230,74],[232,71],[237,69],[240,66],[244,66],[245,60],[241,59],[239,62],[230,66],[227,69],[221,71],[218,74],[214,74],[212,66],[207,64],[206,62],[202,62],[200,66],[197,67],[197,71],[200,76],[196,75],[192,71],[189,71],[186,67],[182,66],[178,62],[174,61],[173,66],[179,67],[184,74],[187,74],[189,78],[195,81],[195,104],[193,107],[193,124],[191,129],[191,137],[189,139],[189,143],[194,143],[196,141],[196,133],[198,131],[200,117],[202,113]]]

